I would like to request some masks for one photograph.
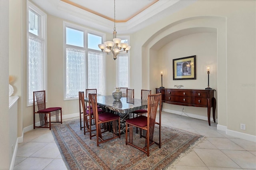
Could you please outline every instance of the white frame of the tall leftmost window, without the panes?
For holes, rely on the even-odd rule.
[[[36,36],[35,34],[32,34],[29,32],[29,27],[28,27],[28,11],[31,10],[34,12],[36,15],[39,16],[39,35]],[[43,68],[43,89],[46,90],[46,102],[47,102],[47,14],[44,13],[40,8],[32,4],[30,1],[27,0],[27,9],[26,9],[26,44],[27,44],[27,107],[33,105],[33,101],[29,102],[29,38],[33,37],[35,39],[38,39],[42,42],[42,56],[43,56],[43,63],[42,63],[42,68]]]

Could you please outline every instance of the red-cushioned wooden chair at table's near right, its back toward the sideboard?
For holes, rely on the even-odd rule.
[[[161,148],[161,109],[159,109],[160,122],[158,123],[159,125],[159,141],[158,142],[159,143],[153,140],[158,104],[160,104],[160,108],[161,108],[161,101],[162,101],[161,93],[148,95],[147,116],[141,115],[141,116],[126,120],[125,144],[134,146],[135,148],[147,153],[147,156],[149,156],[149,146],[151,146],[152,144],[157,144],[159,148]],[[146,130],[145,145],[143,148],[142,146],[136,146],[133,143],[133,127],[138,127],[138,128],[141,128],[142,130]],[[128,129],[129,129],[129,134],[128,134]],[[129,140],[128,140],[128,135],[129,135]],[[140,138],[136,138],[136,140],[140,140]]]

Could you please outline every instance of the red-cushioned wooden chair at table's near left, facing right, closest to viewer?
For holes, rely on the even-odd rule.
[[[108,113],[108,112],[98,114],[96,93],[89,93],[89,104],[92,105],[92,112],[93,112],[95,125],[96,125],[97,146],[99,146],[99,144],[102,142],[106,142],[108,140],[112,140],[118,137],[120,138],[121,137],[120,136],[120,116],[115,115],[114,113]],[[102,124],[106,125],[107,123],[108,123],[108,127],[112,126],[113,136],[111,138],[103,139],[102,133],[108,132],[110,129],[106,130],[106,128],[104,128],[104,131],[101,131],[100,125]],[[118,130],[117,130],[117,127],[118,127]]]

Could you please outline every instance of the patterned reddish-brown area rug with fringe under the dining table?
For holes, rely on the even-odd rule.
[[[136,128],[135,128],[136,129]],[[107,132],[108,133],[108,132]],[[104,133],[108,135],[107,133]],[[125,134],[121,138],[101,143],[97,147],[96,137],[80,130],[79,119],[52,124],[52,134],[70,170],[161,170],[171,168],[181,156],[204,136],[172,127],[161,127],[162,147],[150,146],[150,156],[125,145]],[[158,141],[159,128],[156,125],[154,140]],[[106,136],[105,136],[106,137]],[[134,142],[143,143],[144,138],[134,134]],[[104,138],[104,136],[103,136]]]

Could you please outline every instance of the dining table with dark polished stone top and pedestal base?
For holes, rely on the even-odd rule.
[[[85,97],[84,101],[89,102],[88,97]],[[98,95],[97,104],[102,107],[104,111],[111,112],[120,116],[121,134],[125,133],[125,121],[126,119],[129,119],[129,113],[139,109],[146,109],[148,107],[147,100],[122,97],[120,100],[116,101],[112,95]]]

